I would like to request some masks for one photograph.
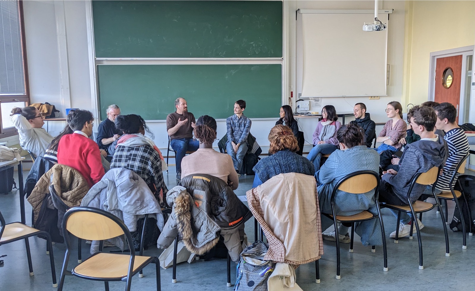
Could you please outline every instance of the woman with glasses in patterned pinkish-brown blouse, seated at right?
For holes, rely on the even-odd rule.
[[[408,128],[406,122],[402,119],[402,106],[398,101],[388,103],[385,111],[390,120],[386,122],[376,138],[378,143],[382,143],[377,149],[379,154],[385,150],[398,151],[402,147],[399,141],[406,136],[406,129]]]

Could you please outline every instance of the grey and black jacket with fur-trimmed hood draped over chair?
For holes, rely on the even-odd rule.
[[[158,248],[168,248],[179,234],[190,252],[202,255],[218,243],[221,234],[231,259],[239,260],[244,223],[252,213],[226,182],[211,175],[188,175],[167,193],[167,203],[172,212]]]

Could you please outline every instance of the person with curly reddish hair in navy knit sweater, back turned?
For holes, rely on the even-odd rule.
[[[256,177],[252,184],[253,188],[279,174],[299,173],[311,176],[315,174],[314,164],[295,153],[299,147],[290,127],[276,125],[272,127],[267,138],[270,142],[270,155],[254,166]]]

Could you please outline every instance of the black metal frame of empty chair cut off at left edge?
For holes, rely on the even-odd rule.
[[[3,218],[3,215],[1,214],[1,212],[0,212],[0,223],[1,223],[0,224],[0,239],[1,239],[3,231],[5,230],[5,227],[7,225],[5,223],[5,219]],[[20,222],[16,222],[16,223],[20,223]],[[9,224],[11,224],[11,223],[9,223]],[[25,223],[21,223],[21,224],[25,224]],[[28,233],[28,234],[16,237],[14,239],[10,239],[10,240],[7,240],[7,241],[0,242],[0,246],[2,244],[12,243],[12,242],[20,241],[20,240],[25,240],[25,247],[26,247],[26,251],[27,251],[29,274],[30,274],[30,276],[33,276],[34,275],[34,273],[33,273],[33,264],[31,262],[31,252],[30,252],[28,238],[32,237],[32,236],[38,236],[38,235],[42,235],[42,236],[46,237],[46,253],[49,254],[49,262],[50,262],[50,265],[51,265],[51,277],[53,279],[53,288],[56,288],[57,287],[57,281],[56,281],[55,259],[54,259],[54,255],[53,255],[53,245],[51,243],[51,236],[49,235],[49,233],[47,233],[45,231],[38,230],[37,232],[34,232],[34,233]]]

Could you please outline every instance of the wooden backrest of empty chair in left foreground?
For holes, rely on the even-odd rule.
[[[67,219],[66,229],[74,236],[90,241],[102,241],[124,234],[120,225],[112,219],[87,211],[72,213]]]

